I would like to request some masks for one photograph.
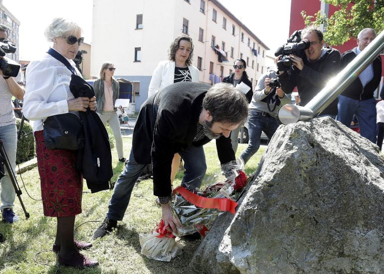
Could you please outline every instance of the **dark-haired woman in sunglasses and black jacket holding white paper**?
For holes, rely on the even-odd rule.
[[[245,96],[248,100],[248,103],[250,103],[252,100],[252,96],[253,96],[252,83],[251,83],[251,81],[249,81],[248,75],[245,72],[246,63],[245,63],[244,59],[241,59],[241,58],[236,59],[234,64],[233,64],[233,68],[235,69],[235,72],[231,73],[228,76],[225,76],[223,78],[222,82],[232,84],[235,87],[237,85],[240,85],[240,83],[243,83],[243,85],[245,84],[246,86],[248,86],[249,90],[245,93]],[[246,89],[248,89],[248,88],[246,88]],[[240,124],[240,126],[237,129],[235,129],[231,132],[232,148],[233,148],[233,151],[235,153],[237,150],[237,144],[239,142],[238,136],[239,136],[239,131],[240,131],[241,126],[242,126],[242,124]]]

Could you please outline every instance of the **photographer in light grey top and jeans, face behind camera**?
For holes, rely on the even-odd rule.
[[[291,102],[276,79],[276,72],[271,70],[260,77],[249,104],[248,130],[249,142],[241,153],[244,164],[257,152],[260,147],[260,137],[263,131],[269,139],[275,134],[279,124],[277,112],[281,106]]]

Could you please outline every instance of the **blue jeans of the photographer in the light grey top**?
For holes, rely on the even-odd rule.
[[[260,137],[263,131],[266,136],[271,139],[275,134],[279,124],[276,118],[271,116],[263,116],[261,112],[251,111],[248,117],[248,147],[241,153],[244,164],[257,152],[260,147]]]

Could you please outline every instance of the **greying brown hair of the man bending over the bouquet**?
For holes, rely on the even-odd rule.
[[[212,122],[238,124],[248,116],[248,102],[233,85],[219,83],[206,93],[202,107],[209,111]]]

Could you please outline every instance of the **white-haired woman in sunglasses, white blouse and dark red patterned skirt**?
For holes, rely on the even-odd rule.
[[[56,217],[56,238],[52,250],[64,266],[94,267],[98,263],[79,253],[92,246],[74,240],[75,216],[81,213],[83,179],[76,170],[76,150],[48,149],[44,144],[43,121],[49,117],[96,110],[96,98],[74,98],[69,89],[71,74],[81,76],[72,59],[83,43],[77,23],[55,18],[45,30],[52,47],[26,70],[23,113],[34,120],[37,166],[45,216]],[[54,57],[55,56],[55,57]],[[59,61],[61,60],[61,61]]]

